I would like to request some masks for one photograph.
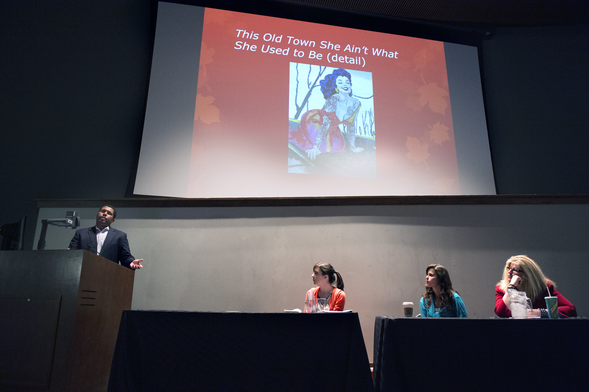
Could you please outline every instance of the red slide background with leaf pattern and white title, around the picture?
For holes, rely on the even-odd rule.
[[[444,42],[211,8],[202,36],[188,197],[461,193]],[[372,73],[376,178],[287,172],[291,62]]]

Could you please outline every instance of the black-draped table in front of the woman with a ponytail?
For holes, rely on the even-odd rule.
[[[358,313],[123,312],[108,390],[370,391]]]

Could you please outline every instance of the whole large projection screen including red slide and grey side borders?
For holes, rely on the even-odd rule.
[[[134,194],[495,194],[477,48],[159,2]]]

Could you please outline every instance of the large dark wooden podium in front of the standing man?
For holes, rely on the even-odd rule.
[[[85,250],[0,251],[0,390],[106,391],[134,276]]]

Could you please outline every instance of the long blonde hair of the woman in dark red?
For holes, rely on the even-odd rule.
[[[509,257],[509,260],[505,263],[503,276],[501,277],[501,281],[497,283],[501,290],[507,290],[507,286],[509,285],[507,267],[511,267],[511,264],[515,264],[514,268],[522,271],[521,290],[525,291],[525,295],[532,300],[532,303],[544,293],[548,282],[552,284],[552,287],[556,287],[553,281],[544,276],[540,266],[534,260],[525,254],[521,254]]]

